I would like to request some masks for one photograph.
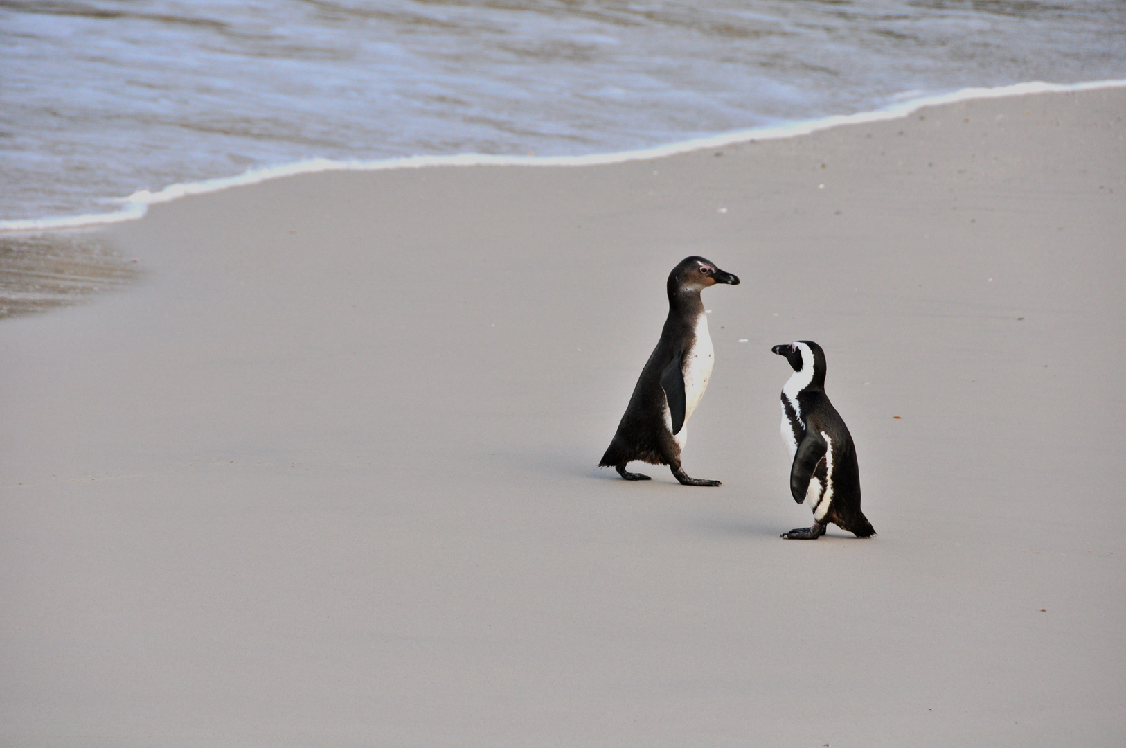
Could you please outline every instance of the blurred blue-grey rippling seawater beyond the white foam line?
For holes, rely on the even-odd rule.
[[[1126,0],[0,0],[0,220],[315,157],[608,153],[1123,78]]]

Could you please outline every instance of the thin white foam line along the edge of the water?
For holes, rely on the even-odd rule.
[[[164,187],[160,192],[155,193],[148,189],[136,192],[122,199],[122,203],[124,204],[122,210],[111,213],[0,221],[0,231],[46,231],[52,229],[71,229],[117,223],[122,221],[135,221],[145,215],[150,205],[169,203],[189,195],[203,195],[205,193],[230,189],[231,187],[257,185],[269,179],[279,179],[282,177],[292,177],[302,173],[315,173],[322,171],[379,171],[383,169],[421,169],[427,167],[587,167],[624,163],[627,161],[660,159],[704,149],[723,148],[725,145],[734,145],[736,143],[745,143],[749,141],[778,140],[784,137],[794,137],[797,135],[807,135],[810,133],[828,130],[830,127],[839,127],[841,125],[897,119],[908,117],[923,107],[939,104],[953,104],[971,99],[992,99],[1007,96],[1022,96],[1026,94],[1058,94],[1120,87],[1126,87],[1126,80],[1102,80],[1071,84],[1036,81],[1028,83],[1015,83],[1012,86],[999,86],[997,88],[964,88],[949,94],[938,94],[897,101],[874,112],[861,112],[850,115],[832,115],[829,117],[804,119],[781,125],[740,130],[709,137],[699,137],[678,143],[670,143],[667,145],[658,145],[655,148],[641,149],[636,151],[623,151],[618,153],[548,157],[463,153],[458,155],[411,155],[375,161],[306,159],[277,167],[251,169],[234,177],[221,177],[216,179],[206,179],[204,181],[169,185],[168,187]]]

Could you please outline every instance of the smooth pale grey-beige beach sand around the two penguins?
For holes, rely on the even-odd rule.
[[[108,231],[142,283],[0,324],[0,742],[1120,746],[1124,116],[313,175]],[[743,280],[705,292],[685,455],[724,483],[627,483],[595,464],[689,253]],[[795,338],[874,540],[778,537]]]

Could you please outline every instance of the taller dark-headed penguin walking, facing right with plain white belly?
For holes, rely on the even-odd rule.
[[[627,481],[644,481],[650,477],[626,472],[626,463],[642,460],[669,465],[685,486],[720,484],[689,478],[680,466],[680,452],[688,440],[688,419],[704,397],[715,363],[700,292],[717,283],[734,286],[739,285],[739,278],[703,257],[686,257],[672,268],[668,282],[669,317],[661,339],[637,379],[629,406],[599,468],[616,468]]]

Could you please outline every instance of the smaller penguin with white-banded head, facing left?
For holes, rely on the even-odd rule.
[[[857,535],[876,531],[860,511],[860,468],[852,436],[825,395],[825,351],[811,340],[771,348],[794,368],[781,389],[781,437],[794,464],[789,492],[802,504],[810,500],[813,526],[798,527],[783,537],[816,540],[833,523]]]

